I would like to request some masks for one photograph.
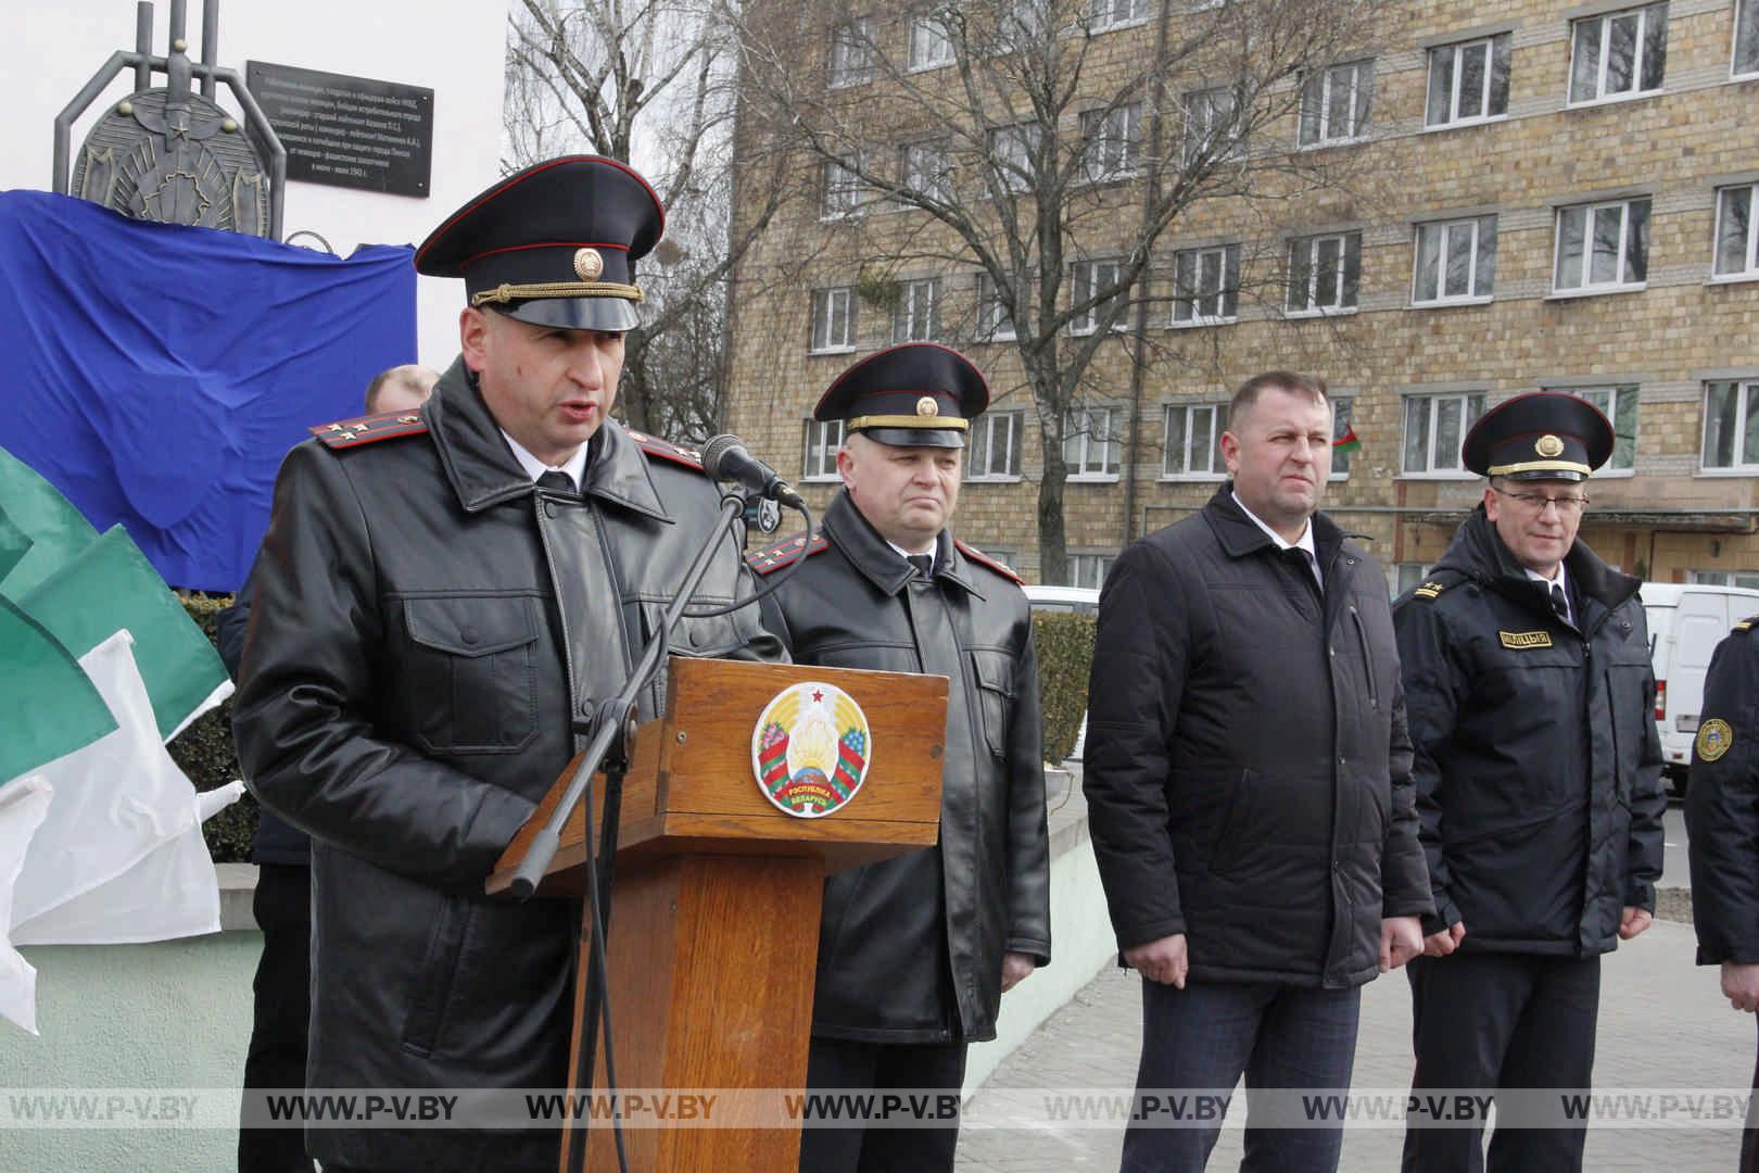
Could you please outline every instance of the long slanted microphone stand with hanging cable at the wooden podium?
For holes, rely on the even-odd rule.
[[[586,1006],[582,1015],[584,1022],[579,1062],[575,1064],[575,1087],[582,1089],[586,1094],[591,1094],[593,1090],[593,1067],[598,1059],[598,1024],[603,1018],[605,1076],[612,1096],[612,1126],[616,1129],[619,1164],[624,1162],[623,1126],[621,1113],[616,1108],[616,1059],[610,1048],[610,1015],[609,1006],[605,1004],[609,988],[609,971],[605,969],[605,936],[610,929],[610,893],[616,881],[623,776],[628,772],[628,749],[635,733],[635,698],[660,670],[667,649],[672,644],[674,628],[677,628],[679,619],[682,619],[684,612],[690,608],[690,600],[702,584],[702,579],[709,573],[709,565],[714,561],[721,540],[726,536],[734,521],[744,517],[751,496],[753,494],[742,487],[728,489],[721,494],[721,515],[718,524],[704,540],[702,549],[697,550],[697,557],[691,561],[690,570],[684,572],[684,580],[667,603],[665,612],[661,614],[660,628],[647,642],[647,647],[642,649],[642,658],[630,674],[630,679],[624,681],[616,696],[596,707],[593,740],[588,742],[586,753],[580,754],[580,765],[575,769],[573,777],[568,779],[568,788],[563,791],[561,802],[558,802],[556,809],[551,812],[549,823],[545,823],[544,830],[533,837],[531,848],[519,862],[519,867],[514,871],[514,878],[508,883],[508,892],[515,900],[528,900],[536,892],[538,883],[544,879],[551,860],[556,858],[556,851],[561,846],[561,830],[568,825],[575,807],[579,807],[582,798],[586,798],[591,791],[593,774],[603,769],[605,804],[600,820],[600,841],[596,853],[593,851],[591,821],[586,828],[586,871],[589,895],[588,920],[591,922],[593,964],[586,978]],[[568,1164],[572,1169],[580,1169],[584,1162],[586,1136],[582,1134],[580,1143],[570,1147]]]

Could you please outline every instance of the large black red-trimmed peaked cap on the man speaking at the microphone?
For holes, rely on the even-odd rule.
[[[473,306],[533,325],[639,325],[635,262],[665,234],[660,197],[614,158],[568,155],[510,174],[415,250],[415,271],[461,276]]]

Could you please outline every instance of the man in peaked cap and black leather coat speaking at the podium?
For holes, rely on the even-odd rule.
[[[313,837],[308,1087],[561,1087],[563,900],[484,899],[718,524],[693,454],[609,419],[660,200],[614,160],[508,176],[417,271],[463,276],[463,355],[420,412],[313,429],[281,464],[234,730]],[[734,538],[697,600],[751,593]],[[714,647],[779,654],[753,608]],[[642,716],[653,716],[653,698]],[[308,1129],[324,1169],[556,1168],[554,1129]]]

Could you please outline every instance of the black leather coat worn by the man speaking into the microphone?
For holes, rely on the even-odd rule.
[[[281,464],[234,710],[262,802],[311,834],[311,1087],[559,1087],[568,900],[484,878],[580,746],[716,521],[697,468],[616,422],[584,494],[536,491],[463,362],[426,433]],[[644,452],[646,448],[646,452]],[[675,450],[674,450],[675,452]],[[698,600],[751,593],[734,536]],[[779,654],[756,608],[677,649]],[[644,695],[653,716],[660,695]],[[616,937],[612,937],[612,946]],[[324,1164],[556,1168],[558,1133],[313,1129]]]

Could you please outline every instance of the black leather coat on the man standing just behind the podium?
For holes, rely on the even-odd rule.
[[[772,600],[765,621],[797,663],[948,677],[941,841],[825,883],[813,1034],[996,1038],[1003,953],[1050,962],[1038,659],[1025,594],[945,531],[932,580],[916,577],[839,492],[816,550]]]

